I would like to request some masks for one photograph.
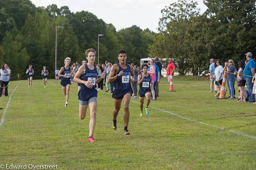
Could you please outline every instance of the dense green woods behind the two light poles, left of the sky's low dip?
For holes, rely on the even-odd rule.
[[[46,66],[54,78],[56,26],[64,26],[57,33],[58,68],[66,57],[73,64],[85,59],[86,49],[97,51],[98,34],[104,34],[99,43],[101,63],[117,62],[117,51],[126,49],[128,60],[139,64],[140,58],[148,57],[155,37],[154,32],[135,25],[116,31],[93,13],[74,13],[68,6],[36,7],[30,0],[0,0],[0,63],[10,66],[12,76],[19,73],[23,78],[28,65],[33,65],[35,78],[41,78]]]

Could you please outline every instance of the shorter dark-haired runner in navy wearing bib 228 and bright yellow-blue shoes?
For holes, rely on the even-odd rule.
[[[152,76],[148,74],[148,68],[149,66],[147,64],[142,65],[142,71],[143,73],[141,75],[138,75],[138,85],[140,87],[139,89],[139,98],[140,98],[140,116],[143,116],[143,104],[144,104],[144,98],[146,97],[146,114],[149,114],[148,106],[150,103],[150,95],[151,95],[151,88],[150,83],[152,81]]]

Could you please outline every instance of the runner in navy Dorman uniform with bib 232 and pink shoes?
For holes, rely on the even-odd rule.
[[[74,82],[80,83],[81,89],[78,92],[79,99],[79,117],[84,119],[86,110],[89,105],[90,108],[90,124],[88,141],[95,142],[93,137],[96,125],[96,109],[97,109],[97,95],[96,83],[105,78],[105,71],[98,78],[98,71],[100,67],[94,65],[96,51],[94,49],[87,49],[85,51],[87,64],[81,65],[74,77]]]

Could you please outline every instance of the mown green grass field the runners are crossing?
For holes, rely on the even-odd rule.
[[[129,136],[123,135],[122,108],[117,131],[112,130],[111,93],[99,91],[95,143],[87,141],[89,114],[79,119],[76,84],[71,85],[69,106],[64,107],[59,81],[49,80],[46,88],[42,80],[33,80],[32,88],[27,81],[20,82],[0,126],[0,164],[58,165],[58,169],[256,169],[255,105],[214,99],[209,81],[175,77],[176,92],[168,92],[169,84],[162,79],[158,101],[150,103],[154,108],[144,117],[139,117],[139,100],[131,99]],[[11,81],[9,95],[17,83]],[[2,108],[8,99],[2,95]]]

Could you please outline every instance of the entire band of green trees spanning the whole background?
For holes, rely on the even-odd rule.
[[[57,67],[66,57],[71,63],[85,59],[85,50],[97,51],[100,62],[117,61],[117,51],[126,49],[128,60],[173,58],[180,75],[208,70],[209,59],[235,64],[245,53],[256,55],[256,6],[254,0],[205,0],[208,9],[200,14],[197,2],[178,0],[161,10],[158,33],[138,26],[119,31],[88,11],[71,12],[68,6],[36,7],[30,0],[0,0],[0,63],[6,62],[12,75],[26,78],[28,65],[41,78],[45,65],[54,77],[55,27],[58,28]],[[97,59],[96,59],[97,61]],[[237,65],[236,65],[237,66]]]

